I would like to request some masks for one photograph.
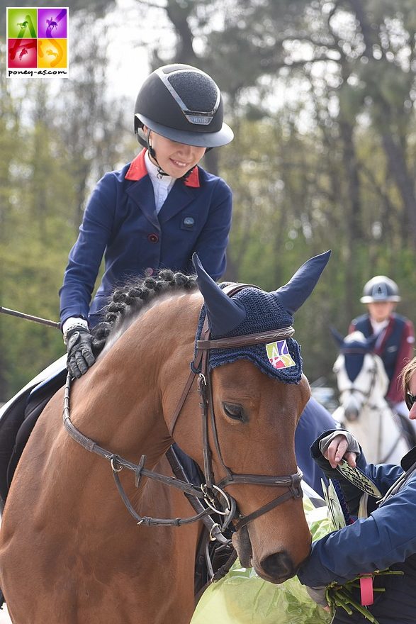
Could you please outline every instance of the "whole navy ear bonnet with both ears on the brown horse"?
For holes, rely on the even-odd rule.
[[[196,340],[201,336],[206,315],[213,339],[276,332],[290,327],[293,313],[308,299],[330,259],[330,254],[328,251],[310,258],[277,291],[268,293],[255,286],[242,285],[242,289],[236,291],[232,297],[227,296],[215,284],[198,256],[193,254],[196,281],[205,302],[199,318]],[[300,347],[293,338],[271,338],[266,344],[211,349],[209,368],[235,360],[250,360],[266,375],[285,384],[298,384],[302,377]]]

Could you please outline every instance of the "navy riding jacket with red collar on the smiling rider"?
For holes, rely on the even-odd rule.
[[[89,199],[69,253],[60,289],[61,322],[75,316],[89,318],[94,325],[113,289],[133,277],[162,268],[193,273],[193,252],[218,279],[225,271],[231,211],[230,187],[195,167],[185,181],[176,180],[157,214],[145,150],[120,171],[105,174]],[[103,257],[103,278],[91,303]]]

